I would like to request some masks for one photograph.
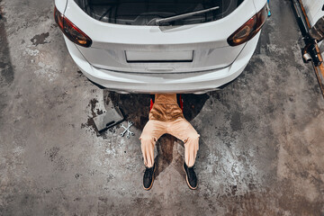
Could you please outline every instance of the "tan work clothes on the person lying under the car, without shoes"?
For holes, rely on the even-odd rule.
[[[176,94],[156,94],[148,119],[139,138],[145,166],[154,165],[155,144],[157,139],[165,133],[184,142],[185,164],[189,167],[193,166],[199,148],[200,135],[184,119],[183,112],[176,102]]]

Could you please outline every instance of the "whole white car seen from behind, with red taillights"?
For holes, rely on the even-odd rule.
[[[201,94],[242,73],[266,0],[56,0],[77,67],[119,93]]]

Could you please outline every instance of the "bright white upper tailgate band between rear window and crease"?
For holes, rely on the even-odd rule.
[[[266,0],[263,2],[266,4]],[[85,14],[73,0],[68,0],[64,15],[93,40],[93,48],[109,49],[111,45],[122,44],[132,48],[132,45],[205,42],[212,42],[214,47],[227,47],[229,35],[256,13],[253,0],[245,0],[234,12],[214,22],[183,26],[121,25],[97,21]]]

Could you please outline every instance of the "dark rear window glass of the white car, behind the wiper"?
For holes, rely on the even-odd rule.
[[[104,23],[147,25],[152,19],[167,18],[219,6],[203,14],[195,14],[165,23],[186,25],[219,20],[232,13],[244,0],[75,0],[86,14]]]

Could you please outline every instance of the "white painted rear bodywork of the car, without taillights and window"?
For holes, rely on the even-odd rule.
[[[65,40],[85,76],[109,89],[129,93],[205,92],[230,82],[246,67],[260,33],[235,47],[230,47],[227,39],[265,4],[266,0],[245,0],[231,14],[209,23],[137,26],[97,21],[68,0],[65,16],[93,44],[84,48]],[[149,62],[152,59],[158,62]]]

